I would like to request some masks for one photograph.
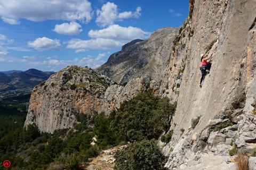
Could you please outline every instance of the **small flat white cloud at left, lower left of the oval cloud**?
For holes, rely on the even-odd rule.
[[[35,41],[28,42],[29,47],[33,47],[36,50],[60,50],[60,40],[58,39],[50,39],[46,37],[37,38]]]

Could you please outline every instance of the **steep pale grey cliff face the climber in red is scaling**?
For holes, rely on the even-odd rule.
[[[238,152],[252,152],[256,147],[255,13],[253,0],[190,1],[190,15],[159,89],[178,100],[172,141],[163,148],[167,168],[236,169],[229,150],[237,145]],[[212,67],[199,88],[199,56],[205,52],[212,55]],[[197,116],[199,123],[191,129]],[[255,159],[250,160],[253,165]]]

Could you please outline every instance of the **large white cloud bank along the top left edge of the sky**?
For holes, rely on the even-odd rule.
[[[93,15],[87,0],[8,0],[0,1],[0,16],[4,22],[18,24],[30,21],[65,20],[88,23]]]

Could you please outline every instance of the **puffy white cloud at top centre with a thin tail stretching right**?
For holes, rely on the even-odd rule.
[[[137,7],[135,12],[125,11],[118,12],[117,5],[114,3],[107,2],[101,9],[97,10],[96,23],[101,27],[114,24],[115,21],[122,21],[128,18],[139,18],[141,15],[141,7]]]

